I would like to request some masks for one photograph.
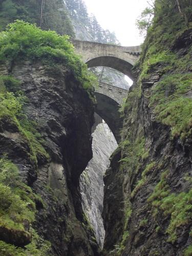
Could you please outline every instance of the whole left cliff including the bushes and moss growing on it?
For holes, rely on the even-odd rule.
[[[40,40],[41,44],[38,42],[37,45],[42,48],[50,44],[52,52],[55,49],[55,42],[56,47],[59,47],[60,41],[59,53],[62,52],[63,45],[69,44],[65,46],[63,54],[68,52],[68,56],[75,61],[76,57],[70,50],[70,43],[65,38],[52,32],[43,32],[23,22],[13,25],[12,29],[14,32],[6,32],[9,44],[1,35],[1,61],[4,63],[0,69],[0,194],[2,198],[2,187],[9,185],[7,189],[17,193],[17,201],[19,198],[24,202],[28,197],[30,199],[29,203],[23,203],[23,206],[26,205],[25,211],[19,209],[20,213],[24,211],[24,219],[22,215],[19,217],[11,214],[14,212],[13,207],[16,207],[13,202],[10,208],[10,202],[6,197],[7,203],[2,204],[1,201],[1,214],[4,214],[4,210],[7,211],[3,217],[1,215],[0,254],[6,251],[6,255],[98,255],[94,232],[82,214],[78,184],[80,174],[92,157],[92,93],[83,89],[83,84],[77,76],[75,77],[74,70],[66,60],[67,56],[64,55],[65,61],[61,61],[61,55],[57,54],[57,64],[54,65],[54,57],[48,50],[50,47],[46,48],[46,55],[41,58],[35,56],[35,40]],[[19,42],[24,38],[28,38],[27,44],[19,48]],[[14,52],[11,55],[12,52],[8,51],[4,60],[3,44],[11,48],[13,42],[14,45],[18,44],[18,53]],[[33,57],[30,55],[32,49],[35,49]],[[25,54],[28,54],[28,58]],[[76,59],[74,63],[77,68],[78,60]],[[19,103],[13,99],[15,97],[22,100],[24,95],[25,104],[21,112]],[[19,113],[15,112],[16,108],[19,109]],[[15,184],[13,186],[10,180],[3,176],[4,157],[17,166],[23,182],[28,185],[19,185],[21,190],[18,192],[18,184],[16,183],[14,188]],[[2,177],[5,185],[2,185]],[[32,207],[35,218],[27,219],[27,212]],[[37,237],[36,233],[34,235],[34,229],[40,237]],[[35,239],[37,241],[34,241]],[[51,248],[42,251],[44,239],[49,241]],[[29,247],[24,247],[28,244]]]

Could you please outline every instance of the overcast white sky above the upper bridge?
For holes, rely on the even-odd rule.
[[[147,0],[84,0],[84,3],[103,29],[115,32],[122,46],[142,43],[135,21],[147,6]]]

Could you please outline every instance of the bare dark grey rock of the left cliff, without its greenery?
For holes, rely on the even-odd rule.
[[[59,67],[48,69],[38,61],[1,67],[1,75],[12,75],[21,82],[20,90],[28,98],[25,114],[37,123],[50,157],[38,154],[33,164],[29,141],[9,119],[1,119],[1,156],[6,154],[41,196],[44,203],[37,202],[33,226],[51,242],[51,255],[98,255],[94,233],[82,214],[78,184],[92,158],[93,103],[72,72],[64,65]]]

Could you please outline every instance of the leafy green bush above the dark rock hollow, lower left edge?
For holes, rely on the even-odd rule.
[[[29,190],[25,190],[19,179],[16,165],[6,158],[0,159],[0,182],[0,226],[25,230],[24,222],[34,221],[36,208],[34,202],[31,204]],[[21,186],[25,197],[19,193]]]

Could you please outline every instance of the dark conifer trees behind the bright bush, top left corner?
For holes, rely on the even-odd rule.
[[[43,4],[43,5],[42,5]],[[0,3],[0,29],[16,19],[37,24],[42,29],[74,36],[68,11],[62,0],[4,0]]]

